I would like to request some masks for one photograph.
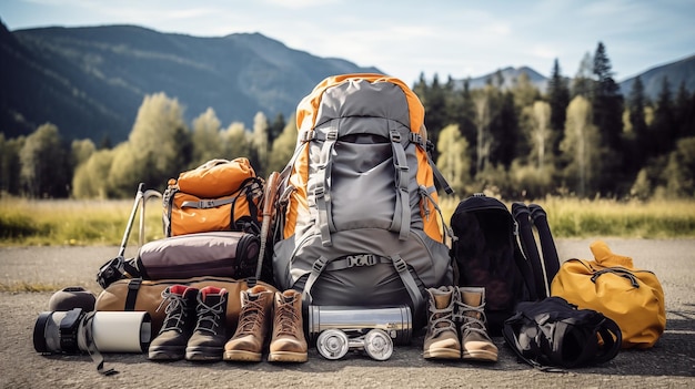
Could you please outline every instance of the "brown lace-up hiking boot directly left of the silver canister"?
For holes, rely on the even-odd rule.
[[[271,362],[305,362],[306,339],[302,323],[302,294],[290,289],[275,293],[275,319],[270,342]]]

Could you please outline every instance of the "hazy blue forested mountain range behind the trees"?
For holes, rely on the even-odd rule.
[[[289,119],[299,101],[329,75],[379,72],[335,58],[293,50],[260,33],[197,38],[137,25],[38,28],[9,31],[0,23],[0,129],[6,137],[29,134],[46,122],[67,140],[124,141],[148,94],[178,99],[190,121],[212,108],[226,126]],[[522,72],[541,90],[547,79],[530,68],[500,70],[508,84]],[[470,79],[472,89],[494,74]],[[643,74],[655,98],[668,76],[695,91],[695,57]],[[463,84],[463,80],[456,80]],[[621,82],[624,94],[634,79]],[[508,86],[508,85],[507,85]]]

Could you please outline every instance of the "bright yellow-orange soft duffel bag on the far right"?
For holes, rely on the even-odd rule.
[[[636,269],[631,257],[613,254],[602,240],[591,250],[595,260],[562,264],[551,295],[613,319],[623,332],[622,348],[654,346],[666,328],[664,290],[656,275]]]

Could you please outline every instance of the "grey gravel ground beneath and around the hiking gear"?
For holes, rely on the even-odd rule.
[[[592,258],[591,239],[558,239],[561,260]],[[155,364],[141,354],[105,355],[120,373],[102,377],[89,356],[41,356],[32,331],[51,291],[0,293],[1,388],[695,388],[695,239],[606,239],[614,253],[653,270],[664,287],[665,334],[648,350],[623,350],[601,367],[551,373],[518,364],[502,338],[496,364],[430,361],[422,358],[422,334],[396,347],[386,361],[349,354],[326,360],[315,348],[298,365]],[[98,294],[98,268],[118,247],[0,248],[0,284],[10,289],[80,285]],[[127,253],[127,255],[131,255]],[[26,288],[24,287],[24,288]],[[7,289],[7,288],[6,288]]]

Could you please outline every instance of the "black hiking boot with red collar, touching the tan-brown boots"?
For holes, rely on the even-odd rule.
[[[226,289],[207,286],[198,293],[198,323],[185,348],[188,360],[220,360],[226,341]]]

